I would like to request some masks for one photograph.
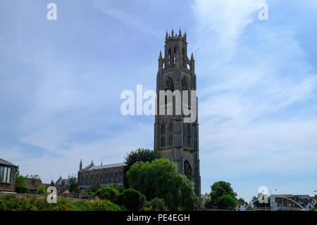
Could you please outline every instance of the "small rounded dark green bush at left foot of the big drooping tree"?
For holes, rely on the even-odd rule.
[[[124,205],[126,209],[138,211],[144,206],[145,196],[134,189],[127,189],[116,196],[115,202],[118,205]]]

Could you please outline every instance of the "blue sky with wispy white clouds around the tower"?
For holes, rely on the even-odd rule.
[[[120,93],[155,90],[166,29],[182,28],[196,60],[201,193],[223,180],[246,200],[260,186],[313,195],[316,11],[309,0],[1,1],[0,157],[49,182],[80,159],[152,148],[154,116],[121,115]]]

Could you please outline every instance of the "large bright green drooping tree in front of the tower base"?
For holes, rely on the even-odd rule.
[[[159,197],[170,210],[197,209],[194,183],[178,174],[178,167],[167,159],[136,162],[127,172],[129,186],[148,200]]]

